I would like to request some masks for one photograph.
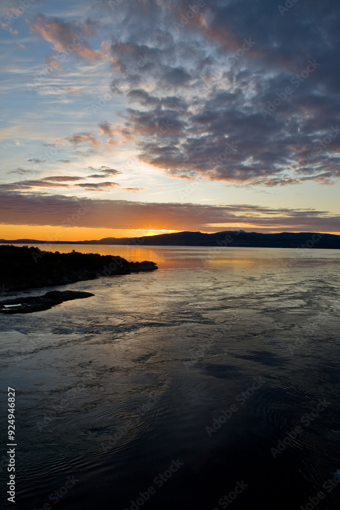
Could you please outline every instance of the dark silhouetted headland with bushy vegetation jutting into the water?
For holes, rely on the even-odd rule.
[[[2,292],[32,287],[66,285],[99,276],[157,269],[154,262],[127,262],[119,256],[99,253],[40,251],[34,246],[0,246]]]

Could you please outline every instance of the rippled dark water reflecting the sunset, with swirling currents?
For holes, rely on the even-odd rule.
[[[337,250],[54,249],[159,269],[0,317],[20,510],[339,508]]]

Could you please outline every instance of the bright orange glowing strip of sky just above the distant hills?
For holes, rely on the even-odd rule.
[[[270,228],[256,227],[251,225],[249,227],[246,224],[241,226],[216,226],[215,232],[222,232],[227,230],[242,230],[247,229],[247,232],[263,232],[265,234],[277,234],[277,231],[271,230]],[[36,239],[38,241],[91,241],[98,240],[105,237],[146,237],[156,236],[159,234],[171,234],[174,232],[182,232],[179,230],[166,230],[166,229],[150,229],[150,230],[119,230],[111,228],[91,228],[91,227],[62,227],[62,226],[51,226],[51,225],[0,225],[0,238],[5,240],[16,240],[16,239]],[[201,231],[204,233],[204,231]],[[290,232],[286,228],[280,228],[280,232]],[[293,232],[306,232],[305,230],[295,230]],[[205,232],[211,234],[212,232]],[[340,232],[324,232],[324,234],[340,235]]]

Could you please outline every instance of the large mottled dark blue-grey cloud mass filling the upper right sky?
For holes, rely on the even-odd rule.
[[[215,0],[193,16],[184,0],[119,9],[112,91],[136,105],[122,133],[143,161],[235,185],[340,177],[338,2],[283,15],[271,0]]]

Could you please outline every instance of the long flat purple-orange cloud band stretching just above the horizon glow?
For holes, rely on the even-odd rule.
[[[104,183],[107,185],[107,183]],[[110,183],[114,184],[114,183]],[[224,225],[251,224],[251,230],[275,232],[338,232],[339,216],[314,209],[270,208],[247,204],[229,206],[193,203],[146,203],[129,200],[80,199],[63,195],[1,191],[2,222],[21,225],[61,225],[81,203],[88,212],[77,226],[94,228],[218,232]],[[249,231],[249,227],[244,230]]]

